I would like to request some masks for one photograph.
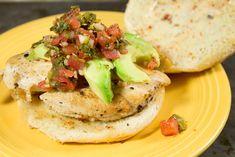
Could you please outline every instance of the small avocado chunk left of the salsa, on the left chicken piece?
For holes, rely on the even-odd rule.
[[[29,56],[26,59],[28,59],[28,60],[36,60],[36,59],[49,60],[49,58],[47,58],[45,56],[45,54],[48,51],[49,51],[49,49],[43,43],[41,43],[30,51]]]

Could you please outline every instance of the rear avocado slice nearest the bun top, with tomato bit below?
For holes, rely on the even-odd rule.
[[[131,33],[124,33],[124,39],[130,43],[127,49],[128,52],[132,54],[133,62],[137,64],[144,63],[154,58],[158,64],[157,66],[160,66],[159,54],[151,43]]]

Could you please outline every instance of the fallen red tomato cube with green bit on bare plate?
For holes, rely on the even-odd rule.
[[[173,136],[185,131],[187,124],[183,118],[173,114],[169,119],[160,122],[160,129],[164,136]]]

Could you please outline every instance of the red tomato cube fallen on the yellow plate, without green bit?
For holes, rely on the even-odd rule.
[[[177,135],[179,133],[179,126],[175,118],[169,118],[160,123],[161,132],[164,136]]]

